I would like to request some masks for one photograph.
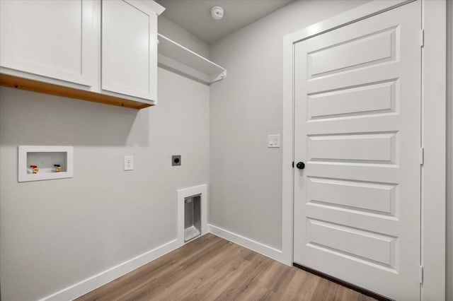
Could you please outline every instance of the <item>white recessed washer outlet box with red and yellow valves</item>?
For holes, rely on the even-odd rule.
[[[72,146],[19,146],[18,182],[73,177],[73,158]]]

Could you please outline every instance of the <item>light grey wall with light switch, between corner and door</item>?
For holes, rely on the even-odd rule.
[[[294,1],[216,42],[212,61],[228,76],[211,85],[210,223],[282,247],[283,36],[366,1]]]

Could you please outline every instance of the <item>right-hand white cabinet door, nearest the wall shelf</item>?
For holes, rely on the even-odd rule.
[[[138,1],[102,2],[102,89],[156,100],[157,16]]]

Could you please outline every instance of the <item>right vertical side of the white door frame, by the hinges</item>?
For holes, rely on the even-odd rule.
[[[445,300],[447,115],[446,1],[422,1],[423,288],[421,300]]]

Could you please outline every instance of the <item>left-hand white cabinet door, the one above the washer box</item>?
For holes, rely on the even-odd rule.
[[[1,0],[0,66],[96,84],[93,0]]]

